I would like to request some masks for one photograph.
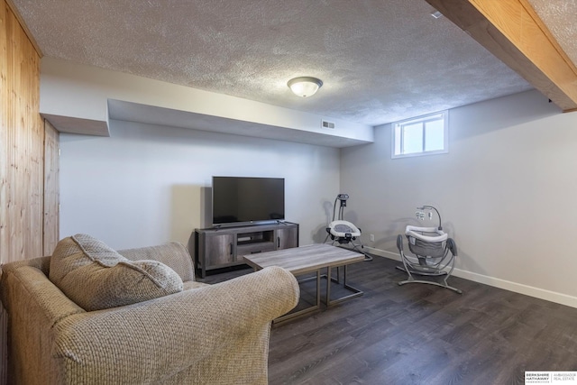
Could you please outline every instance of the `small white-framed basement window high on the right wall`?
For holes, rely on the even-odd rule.
[[[449,112],[423,115],[392,124],[391,158],[449,152]]]

